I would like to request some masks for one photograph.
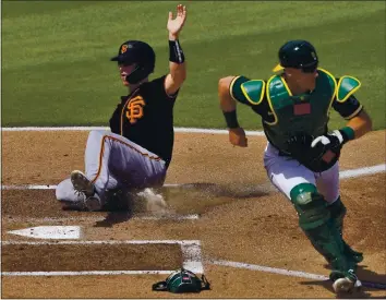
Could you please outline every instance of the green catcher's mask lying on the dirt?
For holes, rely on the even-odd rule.
[[[153,290],[168,290],[170,292],[200,292],[203,289],[210,289],[210,284],[203,275],[202,279],[193,272],[184,268],[174,271],[166,278],[165,281],[159,281],[153,285]]]

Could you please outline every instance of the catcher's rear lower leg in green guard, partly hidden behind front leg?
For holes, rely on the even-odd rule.
[[[354,251],[343,239],[343,218],[346,216],[347,209],[345,204],[341,202],[340,196],[333,204],[328,205],[327,208],[330,212],[331,218],[335,221],[335,226],[339,230],[339,233],[343,240],[345,254],[357,264],[362,262],[363,253]]]

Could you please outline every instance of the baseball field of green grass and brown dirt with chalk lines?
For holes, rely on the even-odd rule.
[[[84,169],[86,127],[107,127],[126,94],[109,61],[119,45],[147,41],[154,76],[168,71],[166,22],[178,2],[1,4],[2,298],[335,298],[328,265],[266,177],[260,118],[238,107],[248,148],[232,147],[226,131],[198,130],[225,129],[221,76],[268,79],[278,48],[297,38],[313,43],[322,68],[362,82],[355,95],[374,131],[340,159],[345,238],[365,257],[364,287],[348,297],[386,298],[384,1],[182,2],[188,80],[174,109],[167,208],[137,203],[131,214],[62,211],[55,187]],[[333,112],[330,129],[343,124]],[[152,291],[181,266],[204,273],[212,290]]]

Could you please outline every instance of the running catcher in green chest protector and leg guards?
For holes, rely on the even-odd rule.
[[[354,93],[358,79],[334,76],[318,68],[315,48],[306,40],[290,40],[279,49],[278,72],[265,80],[228,76],[219,81],[219,98],[232,145],[246,147],[239,125],[237,101],[261,116],[268,140],[264,166],[268,178],[293,204],[299,225],[313,247],[330,263],[337,292],[360,281],[357,264],[363,260],[343,240],[346,207],[339,194],[341,147],[372,129],[369,115]],[[334,108],[348,120],[329,131]]]

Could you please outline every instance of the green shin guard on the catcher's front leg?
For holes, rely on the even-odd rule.
[[[343,240],[327,209],[327,203],[311,183],[291,190],[291,201],[298,212],[299,225],[314,248],[345,275],[352,263],[345,255]]]

